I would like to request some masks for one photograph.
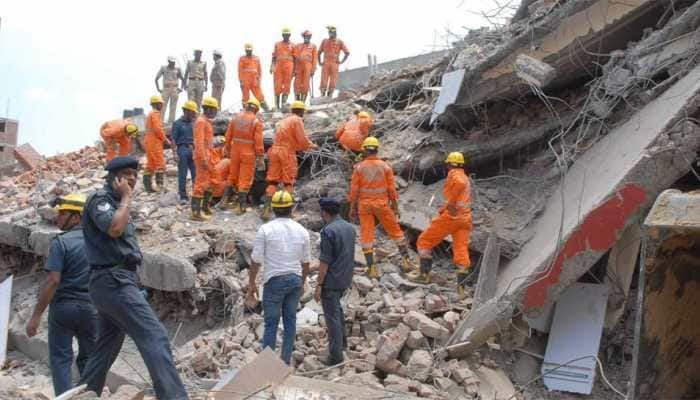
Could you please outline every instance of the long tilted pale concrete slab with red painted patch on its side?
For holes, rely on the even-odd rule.
[[[700,127],[687,119],[700,111],[699,96],[700,66],[576,160],[535,222],[535,236],[501,269],[494,300],[536,318],[639,221],[700,150]],[[484,318],[465,320],[449,344],[478,346],[505,317],[480,309],[472,314]]]

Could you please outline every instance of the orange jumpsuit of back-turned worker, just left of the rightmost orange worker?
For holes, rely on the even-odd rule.
[[[379,220],[387,235],[401,244],[403,231],[391,209],[389,201],[398,201],[399,194],[394,183],[394,171],[376,154],[367,156],[355,165],[348,202],[358,202],[360,216],[360,244],[364,252],[374,247],[374,218]]]

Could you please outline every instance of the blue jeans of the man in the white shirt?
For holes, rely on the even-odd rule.
[[[297,332],[297,306],[301,298],[301,277],[288,274],[270,278],[263,288],[263,316],[265,333],[263,349],[275,350],[277,344],[277,326],[282,315],[284,336],[282,338],[282,361],[289,365],[294,351],[294,338]]]

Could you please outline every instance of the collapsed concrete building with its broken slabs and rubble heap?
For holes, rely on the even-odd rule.
[[[325,331],[311,290],[299,310],[294,371],[261,353],[262,317],[243,304],[261,223],[255,213],[218,211],[212,221],[194,223],[178,205],[173,178],[165,193],[137,189],[132,218],[145,254],[141,281],[152,289],[150,301],[171,334],[192,396],[565,398],[547,389],[599,399],[628,391],[639,399],[700,396],[697,374],[687,367],[697,360],[695,330],[684,325],[687,335],[659,342],[667,333],[649,317],[663,313],[661,304],[680,308],[670,318],[686,320],[694,297],[654,297],[659,288],[645,274],[671,273],[637,268],[646,254],[642,222],[657,196],[700,186],[699,28],[694,1],[525,0],[508,26],[472,31],[436,62],[376,75],[361,89],[315,102],[306,126],[321,148],[302,156],[295,211],[312,240],[322,227],[318,198],[348,191],[351,163],[335,129],[371,109],[380,156],[397,175],[400,222],[412,240],[442,204],[444,156],[465,153],[474,216],[470,252],[480,267],[472,296],[460,300],[449,239],[437,250],[441,262],[427,286],[404,279],[385,237],[377,249],[379,280],[360,273],[358,249],[353,288],[343,300],[351,361],[338,368],[319,361]],[[220,114],[222,134],[231,114]],[[281,117],[265,115],[267,145]],[[30,358],[47,357],[46,329],[29,339],[24,326],[57,232],[48,223],[48,202],[100,187],[102,159],[99,148],[86,147],[0,181],[0,267],[15,280],[10,343]],[[172,160],[169,165],[173,177]],[[262,178],[256,177],[254,197]],[[677,279],[685,287],[695,275]],[[657,303],[640,304],[636,290]],[[647,318],[637,321],[635,335],[638,315]],[[639,361],[663,349],[676,358],[654,366]],[[661,387],[657,378],[669,376],[661,371],[674,360],[687,377],[683,389]],[[267,376],[270,370],[283,373]],[[257,386],[245,386],[243,376]],[[147,377],[127,342],[110,389],[148,387]],[[33,398],[28,389],[14,395]]]

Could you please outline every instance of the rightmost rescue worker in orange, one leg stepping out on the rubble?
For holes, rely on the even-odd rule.
[[[460,296],[464,296],[464,285],[472,273],[469,260],[469,235],[472,231],[471,189],[469,177],[464,172],[462,153],[450,153],[445,164],[449,171],[442,190],[445,205],[428,229],[418,237],[416,247],[420,257],[420,269],[411,272],[409,279],[430,283],[432,250],[447,235],[452,235],[452,259],[457,266],[457,289]]]

